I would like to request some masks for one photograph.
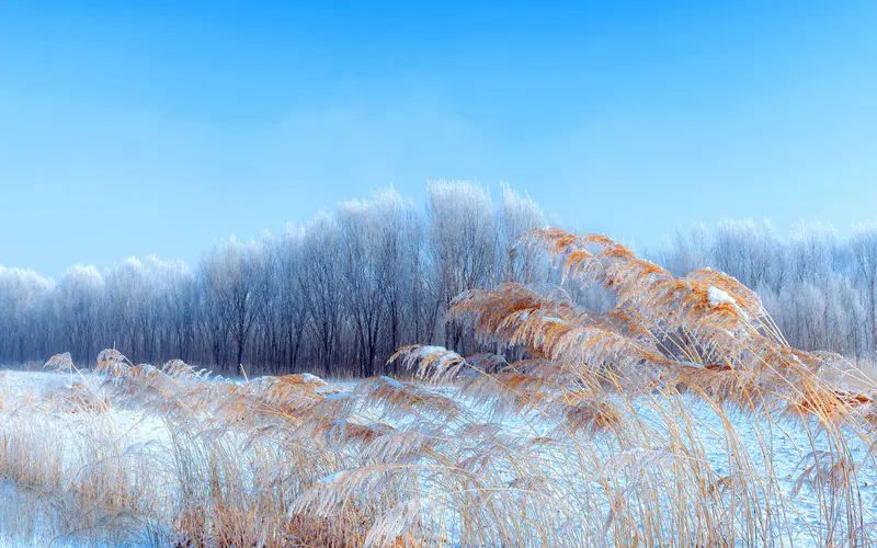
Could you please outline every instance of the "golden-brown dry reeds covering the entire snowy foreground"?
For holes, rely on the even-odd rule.
[[[597,235],[522,244],[613,290],[615,307],[517,284],[471,292],[454,320],[524,359],[411,346],[394,359],[415,380],[350,391],[115,351],[94,374],[53,358],[77,380],[3,395],[0,475],[35,493],[42,535],[93,544],[877,540],[873,367],[791,349],[724,274],[674,278]]]

